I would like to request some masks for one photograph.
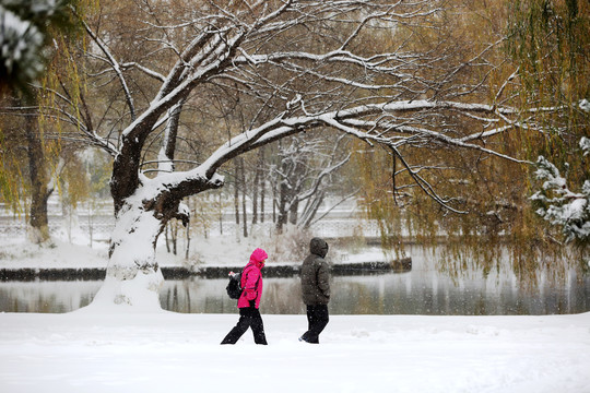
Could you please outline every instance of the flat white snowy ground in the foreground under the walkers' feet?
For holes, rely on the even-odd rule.
[[[590,313],[332,315],[319,346],[263,319],[269,346],[221,346],[237,315],[0,313],[0,391],[590,392]]]

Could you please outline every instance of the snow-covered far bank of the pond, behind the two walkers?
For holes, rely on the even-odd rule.
[[[167,252],[161,245],[156,259],[166,278],[185,278],[193,274],[210,278],[226,277],[229,270],[238,271],[248,262],[248,257],[258,243],[256,239],[237,241],[231,237],[200,239],[189,258]],[[351,269],[412,269],[411,258],[386,258],[380,247],[364,247],[356,253],[337,249],[331,253],[335,254],[328,257],[333,274],[347,274]],[[292,276],[300,266],[302,261],[284,261],[272,252],[270,255],[267,276]],[[90,248],[59,239],[43,246],[25,240],[0,242],[0,279],[103,279],[107,264],[106,245]]]

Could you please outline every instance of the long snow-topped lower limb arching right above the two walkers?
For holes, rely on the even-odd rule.
[[[468,143],[465,141],[462,141],[461,139],[455,139],[445,135],[444,133],[436,130],[427,130],[424,128],[409,126],[393,127],[389,121],[379,122],[373,120],[371,118],[364,120],[364,117],[367,116],[381,116],[384,114],[400,114],[409,111],[415,112],[421,110],[429,110],[433,108],[447,108],[453,110],[464,110],[468,112],[474,111],[487,114],[494,114],[497,110],[500,110],[505,114],[515,112],[510,108],[498,109],[487,105],[470,105],[452,102],[433,103],[428,100],[416,100],[387,103],[384,105],[366,105],[356,108],[350,108],[347,110],[337,110],[320,115],[296,116],[290,118],[278,117],[260,127],[234,136],[232,140],[220,146],[213,154],[209,156],[208,159],[205,159],[197,168],[185,172],[176,172],[174,174],[174,176],[170,175],[169,177],[166,175],[162,175],[160,176],[160,179],[163,182],[166,182],[168,187],[186,188],[186,183],[202,181],[203,178],[212,178],[213,174],[215,174],[217,168],[220,168],[224,163],[240,154],[252,151],[273,141],[283,139],[287,135],[304,132],[309,129],[317,129],[320,127],[333,128],[364,141],[375,144],[381,144],[394,150],[397,150],[403,144],[416,143],[417,139],[425,139],[427,141],[430,141],[429,143],[433,143],[434,141],[436,143],[447,146],[479,151],[517,163],[527,163],[526,160],[507,156],[482,145],[475,143]],[[499,131],[496,131],[495,133]],[[410,166],[408,167],[410,168]],[[423,187],[425,190],[428,190],[428,193],[433,195],[435,194],[435,192],[432,191],[433,188],[427,184],[427,182],[423,178],[421,178],[417,172],[412,171],[412,174],[413,177],[422,184],[421,187]],[[188,190],[189,188],[186,189]],[[439,202],[447,204],[447,202],[442,199],[439,199]]]

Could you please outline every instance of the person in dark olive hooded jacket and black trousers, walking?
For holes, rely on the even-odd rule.
[[[319,344],[319,334],[329,321],[328,302],[330,301],[330,266],[324,258],[328,243],[320,238],[309,242],[310,254],[302,265],[303,301],[307,306],[308,330],[299,341]]]

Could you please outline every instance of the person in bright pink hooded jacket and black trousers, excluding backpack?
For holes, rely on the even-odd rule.
[[[241,272],[241,296],[238,299],[238,323],[223,338],[222,344],[236,344],[248,327],[252,329],[256,344],[267,345],[264,324],[258,307],[262,297],[262,267],[269,255],[267,251],[257,248],[250,255],[250,262]]]

